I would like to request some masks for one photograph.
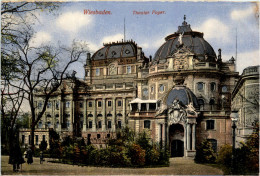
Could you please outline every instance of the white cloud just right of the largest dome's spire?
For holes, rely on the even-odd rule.
[[[231,42],[230,29],[220,20],[210,18],[206,20],[201,26],[195,27],[195,31],[203,31],[205,39],[214,40],[216,42]]]

